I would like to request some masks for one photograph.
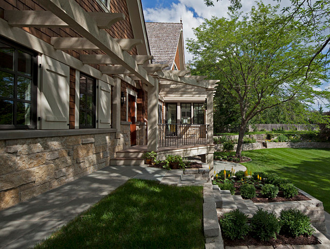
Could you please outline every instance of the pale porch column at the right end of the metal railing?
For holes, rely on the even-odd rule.
[[[213,144],[213,88],[206,89],[207,93],[207,117],[206,124],[208,127],[208,142],[210,146],[207,149],[206,163],[210,168],[210,176],[213,175],[213,154],[214,154],[214,144]]]

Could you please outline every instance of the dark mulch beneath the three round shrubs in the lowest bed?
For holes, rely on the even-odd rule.
[[[244,239],[236,239],[236,240],[230,240],[226,237],[223,237],[224,245],[225,246],[240,246],[240,245],[255,245],[255,246],[267,246],[267,245],[316,245],[320,244],[320,241],[314,236],[305,237],[305,236],[299,236],[296,238],[287,237],[284,235],[277,235],[277,239],[271,238],[269,241],[260,241],[257,239],[254,239],[250,235],[245,236]]]

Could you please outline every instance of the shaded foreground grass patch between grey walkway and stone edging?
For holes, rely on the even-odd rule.
[[[204,248],[203,187],[131,179],[35,248]]]

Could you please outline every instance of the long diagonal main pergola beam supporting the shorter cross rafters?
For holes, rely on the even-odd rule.
[[[139,66],[132,56],[122,51],[120,45],[104,30],[99,29],[97,23],[90,18],[75,1],[71,0],[39,0],[45,8],[61,18],[89,42],[102,50],[107,55],[114,58],[123,67],[147,84],[154,85],[155,80],[152,76]],[[88,22],[86,22],[88,20]]]

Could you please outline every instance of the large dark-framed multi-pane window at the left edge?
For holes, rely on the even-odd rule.
[[[0,39],[0,128],[36,128],[36,56]]]

